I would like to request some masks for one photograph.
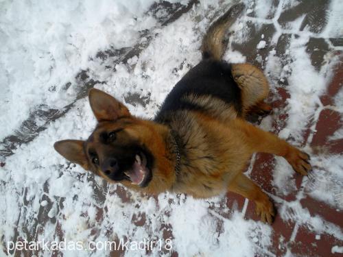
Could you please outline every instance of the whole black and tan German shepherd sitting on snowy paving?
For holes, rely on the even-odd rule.
[[[225,31],[243,10],[244,4],[233,5],[209,27],[202,60],[174,86],[153,121],[132,116],[123,103],[93,88],[89,102],[97,127],[85,141],[56,142],[56,151],[108,182],[148,194],[239,193],[255,201],[262,221],[272,223],[272,202],[242,173],[252,154],[283,156],[301,175],[311,165],[303,151],[245,120],[271,107],[259,69],[221,60]]]

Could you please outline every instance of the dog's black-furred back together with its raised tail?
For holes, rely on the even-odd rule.
[[[174,86],[155,121],[165,123],[169,121],[171,113],[178,110],[196,110],[213,116],[214,110],[224,111],[233,106],[233,115],[241,114],[241,90],[233,79],[230,64],[221,58],[226,29],[235,22],[243,9],[243,3],[233,5],[209,27],[202,41],[202,61]],[[213,108],[209,108],[210,102],[215,103]]]

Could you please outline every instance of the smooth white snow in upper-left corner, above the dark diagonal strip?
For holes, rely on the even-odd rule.
[[[153,2],[1,1],[0,123],[6,126],[0,137],[18,127],[34,106],[61,108],[75,98],[71,78],[88,67],[90,56],[108,45],[131,47],[139,31],[156,24],[152,16],[143,15]],[[61,94],[67,82],[72,85],[67,95]]]

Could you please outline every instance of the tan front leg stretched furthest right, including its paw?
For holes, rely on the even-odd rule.
[[[282,156],[292,165],[294,171],[307,175],[311,171],[309,155],[270,132],[265,132],[247,121],[235,120],[236,129],[242,132],[252,152],[264,152]]]

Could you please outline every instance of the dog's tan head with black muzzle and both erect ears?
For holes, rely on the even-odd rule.
[[[89,102],[98,121],[91,136],[85,141],[58,141],[56,151],[109,182],[131,188],[154,187],[165,180],[169,172],[163,166],[170,163],[165,158],[163,127],[133,117],[123,103],[101,90],[91,89]]]

